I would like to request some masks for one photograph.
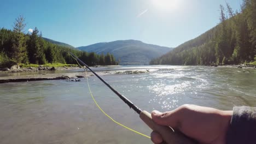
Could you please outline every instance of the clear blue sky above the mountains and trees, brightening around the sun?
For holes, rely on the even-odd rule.
[[[242,0],[226,0],[240,9]],[[1,0],[0,27],[26,18],[26,31],[78,46],[135,39],[176,47],[219,23],[225,0]]]

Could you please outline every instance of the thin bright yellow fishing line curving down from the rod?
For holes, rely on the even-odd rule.
[[[72,56],[72,55],[71,55],[71,56]],[[74,58],[74,57],[72,56],[72,58]],[[76,58],[74,58],[74,59],[75,59],[75,61],[77,61]],[[79,65],[80,67],[82,67],[82,66],[79,64],[78,61],[77,61],[77,63],[78,63],[78,65]],[[82,67],[82,68],[83,68],[83,67]],[[138,134],[138,135],[141,135],[141,136],[144,136],[144,137],[147,137],[147,138],[150,139],[150,136],[147,136],[147,135],[145,135],[145,134],[139,133],[138,131],[131,129],[131,128],[125,126],[124,124],[121,124],[121,123],[115,121],[112,117],[110,117],[106,112],[104,112],[104,111],[101,109],[100,105],[98,105],[97,101],[96,101],[95,98],[94,98],[94,95],[93,95],[92,92],[91,92],[91,88],[90,88],[89,80],[88,80],[88,75],[87,75],[87,70],[85,69],[84,71],[85,71],[85,76],[86,76],[86,81],[87,81],[89,93],[90,93],[90,95],[91,95],[91,98],[94,100],[94,103],[95,103],[96,106],[98,107],[98,109],[100,109],[101,112],[102,112],[105,116],[107,116],[111,121],[113,121],[114,123],[116,123],[116,124],[120,125],[121,127],[124,127],[124,128],[126,128],[126,129],[132,131],[133,133],[136,133],[136,134]]]

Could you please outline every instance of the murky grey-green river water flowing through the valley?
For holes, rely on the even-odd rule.
[[[102,76],[142,110],[170,111],[183,104],[231,110],[256,106],[256,70],[149,66],[146,74]],[[95,76],[92,94],[118,122],[150,135],[137,113]],[[0,84],[0,143],[150,143],[108,119],[92,100],[85,79]]]

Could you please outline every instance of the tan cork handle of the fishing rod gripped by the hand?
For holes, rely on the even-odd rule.
[[[152,120],[152,116],[147,111],[142,111],[139,117],[144,123],[148,125],[152,130],[158,132],[162,139],[168,144],[195,144],[196,142],[189,137],[182,134],[180,131],[175,130],[175,132],[170,128],[163,125],[156,124]]]

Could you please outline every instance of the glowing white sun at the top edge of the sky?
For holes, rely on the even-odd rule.
[[[164,11],[173,11],[179,7],[181,0],[152,0],[155,8]]]

